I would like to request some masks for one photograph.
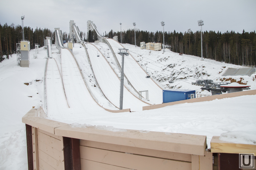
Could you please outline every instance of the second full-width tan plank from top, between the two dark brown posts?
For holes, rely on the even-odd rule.
[[[38,141],[38,149],[41,151],[47,153],[52,158],[56,159],[59,162],[64,161],[63,151],[59,151],[41,141]]]

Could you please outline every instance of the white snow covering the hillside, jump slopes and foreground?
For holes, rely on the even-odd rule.
[[[251,76],[221,76],[226,67],[232,66],[230,64],[227,65],[226,63],[206,59],[201,61],[200,57],[189,55],[179,56],[177,53],[168,50],[163,53],[163,51],[141,50],[139,47],[134,47],[130,44],[122,45],[129,49],[129,53],[144,70],[148,67],[147,71],[150,72],[151,78],[157,81],[158,85],[163,89],[179,88],[196,90],[197,94],[209,95],[210,93],[208,91],[202,91],[200,89],[201,87],[191,85],[191,82],[195,82],[201,78],[208,78],[214,81],[227,81],[229,83],[231,83],[232,79],[250,85],[251,89],[256,89],[255,73]],[[88,48],[90,46],[88,44]],[[116,48],[120,48],[118,44],[115,46]],[[116,68],[113,70],[105,68],[108,64],[103,63],[103,56],[100,56],[101,59],[95,57],[95,62],[97,62],[96,60],[102,62],[102,72],[106,71],[109,75],[112,75],[112,72],[118,73],[118,67],[114,64],[113,54],[110,53],[106,44],[101,43],[97,47],[102,54],[106,54],[105,57],[109,53],[110,58],[107,58],[107,60],[110,65],[112,64],[112,68]],[[97,52],[94,52],[94,54],[93,52],[91,53],[95,55]],[[29,68],[17,66],[16,55],[12,55],[12,57],[0,63],[0,113],[2,115],[2,119],[0,120],[0,170],[27,169],[26,132],[25,124],[22,123],[22,117],[33,106],[36,106],[36,108],[42,106],[44,108],[43,80],[47,51],[39,48],[38,58],[36,59],[32,57],[33,54],[35,54],[35,51],[31,50]],[[100,67],[92,66],[93,72],[95,71],[95,77],[93,76],[85,50],[79,48],[79,45],[75,45],[73,54],[78,61],[82,74],[68,50],[61,50],[60,57],[55,46],[52,48],[53,58],[48,61],[46,79],[47,119],[70,123],[75,127],[98,128],[110,131],[135,129],[140,130],[141,133],[159,131],[206,135],[208,148],[210,147],[212,136],[221,136],[220,139],[223,141],[255,145],[256,115],[254,106],[256,105],[256,95],[197,103],[183,103],[155,110],[142,111],[142,108],[139,108],[136,112],[110,113],[99,105],[111,110],[117,110],[117,108],[106,99],[106,97],[109,97],[109,94],[104,97],[98,85],[95,85],[95,77],[97,75],[96,79],[99,80],[100,88],[102,88],[104,93],[108,88],[114,91],[108,83],[104,84],[104,81],[107,82],[103,77],[106,74],[102,74],[101,76],[99,74],[100,72],[96,73]],[[132,58],[125,58],[125,60],[131,60],[131,64],[125,63],[127,66],[133,64],[136,66]],[[138,69],[137,66],[136,69]],[[169,84],[168,79],[171,77],[172,71],[174,83]],[[136,90],[140,90],[140,85],[138,85],[140,83],[137,83],[139,80],[137,77],[136,80],[133,80],[128,72],[127,78]],[[143,82],[141,83],[143,84],[143,89],[147,89],[147,84],[153,86],[152,80],[144,80],[146,79],[146,74],[142,72],[142,69],[140,72],[143,75],[143,80],[141,80]],[[98,99],[99,104],[88,93],[82,75],[89,85],[91,92]],[[60,80],[61,76],[63,77],[63,85]],[[100,83],[101,80],[104,80],[103,83]],[[116,81],[118,87],[120,85],[118,77],[112,80],[111,76],[109,81],[113,83]],[[149,83],[144,83],[145,81]],[[151,89],[151,87],[148,87],[148,89]],[[132,89],[130,90],[132,91]],[[149,93],[149,103],[161,102],[159,101],[159,96],[162,95],[162,90],[159,90],[158,87],[157,91],[159,91],[157,93],[161,94],[157,94],[156,99],[154,99],[153,95],[156,92]],[[124,97],[126,97],[126,101],[134,100],[133,95],[131,97]],[[112,98],[111,101],[118,103],[119,98]],[[142,105],[147,106],[148,104],[143,102],[140,107]],[[13,160],[15,160],[15,163]]]

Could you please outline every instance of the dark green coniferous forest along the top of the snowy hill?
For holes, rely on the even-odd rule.
[[[0,23],[0,61],[3,61],[3,55],[6,58],[12,57],[16,53],[16,43],[22,39],[22,27],[20,25],[3,26]],[[84,35],[80,32],[80,35]],[[118,36],[118,41],[121,42],[120,32],[103,33],[104,37],[113,38]],[[30,41],[30,49],[35,48],[35,43],[39,47],[44,46],[44,39],[51,37],[52,43],[55,43],[55,32],[48,28],[33,28],[24,27],[24,39]],[[94,42],[98,40],[95,31],[89,31],[88,39],[85,41]],[[67,40],[67,32],[63,32],[63,40]],[[165,48],[169,48],[175,53],[183,53],[201,57],[201,33],[200,31],[164,32]],[[204,31],[202,33],[203,42],[203,57],[216,61],[237,64],[241,66],[253,66],[256,63],[256,33],[245,32],[235,33],[227,31],[224,33],[215,31]],[[163,43],[163,32],[148,32],[136,30],[136,45],[140,46],[140,42],[161,42]],[[135,44],[134,29],[122,31],[122,43]],[[16,57],[16,56],[15,56]]]

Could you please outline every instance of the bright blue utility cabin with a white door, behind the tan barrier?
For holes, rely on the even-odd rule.
[[[163,103],[195,98],[196,90],[168,89],[163,90]]]

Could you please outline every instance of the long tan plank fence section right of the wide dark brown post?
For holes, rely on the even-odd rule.
[[[80,158],[81,169],[212,169],[210,152],[199,156],[88,140],[80,140]]]

